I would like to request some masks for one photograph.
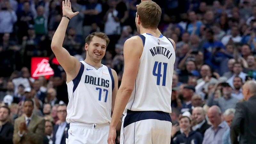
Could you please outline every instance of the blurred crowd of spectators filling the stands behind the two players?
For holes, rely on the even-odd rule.
[[[36,133],[35,143],[65,143],[66,74],[51,50],[62,18],[61,1],[0,1],[0,141],[6,144],[19,141],[20,131]],[[138,35],[134,20],[141,0],[70,1],[79,14],[68,24],[63,47],[84,60],[85,37],[95,31],[106,33],[110,43],[102,64],[116,70],[120,84],[123,46]],[[172,143],[210,144],[214,139],[214,144],[231,144],[229,127],[236,104],[244,101],[243,84],[256,79],[256,1],[155,2],[162,8],[159,30],[176,43]],[[32,76],[35,57],[47,57],[54,75]],[[25,123],[19,119],[22,116]],[[34,122],[35,127],[26,128],[30,116],[37,116],[32,120],[43,125]],[[216,126],[221,130],[214,132]]]

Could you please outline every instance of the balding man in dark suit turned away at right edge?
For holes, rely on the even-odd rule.
[[[256,143],[256,82],[247,81],[243,86],[243,102],[236,104],[235,116],[230,127],[232,144]],[[239,142],[237,137],[240,136]]]

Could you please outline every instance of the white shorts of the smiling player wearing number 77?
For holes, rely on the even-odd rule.
[[[108,144],[109,123],[70,123],[66,144]]]

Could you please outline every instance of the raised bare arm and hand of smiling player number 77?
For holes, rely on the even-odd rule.
[[[66,15],[69,18],[78,14],[78,12],[72,12],[69,0],[66,0],[65,2],[63,1],[62,7],[63,15]],[[73,79],[77,75],[81,64],[75,57],[71,56],[65,48],[62,47],[68,22],[68,18],[62,17],[60,24],[52,37],[51,48],[62,68]]]

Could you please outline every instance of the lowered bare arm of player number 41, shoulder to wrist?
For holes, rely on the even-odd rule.
[[[143,43],[139,36],[133,36],[124,43],[124,73],[121,86],[116,95],[116,103],[110,127],[116,128],[124,108],[131,97],[135,79],[139,69],[140,56],[143,51]]]

